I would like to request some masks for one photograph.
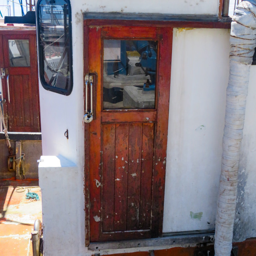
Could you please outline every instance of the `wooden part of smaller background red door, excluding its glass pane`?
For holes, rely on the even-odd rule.
[[[30,66],[10,66],[8,40],[29,40]],[[2,36],[4,63],[9,71],[10,103],[7,74],[2,79],[6,99],[5,116],[10,132],[40,132],[39,88],[37,76],[36,35],[11,34]]]

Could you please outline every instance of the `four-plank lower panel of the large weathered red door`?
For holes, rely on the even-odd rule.
[[[150,229],[153,144],[154,124],[102,125],[102,232]]]

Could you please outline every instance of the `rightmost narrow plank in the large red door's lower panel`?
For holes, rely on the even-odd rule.
[[[143,124],[140,189],[140,229],[150,228],[153,150],[154,124]]]

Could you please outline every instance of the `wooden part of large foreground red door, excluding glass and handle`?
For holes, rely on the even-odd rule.
[[[85,124],[85,176],[90,182],[90,241],[153,238],[162,234],[172,29],[84,28],[85,74],[95,76],[94,115]],[[103,110],[102,45],[106,38],[155,40],[155,108]],[[86,50],[88,47],[88,51]],[[85,182],[88,185],[88,182]],[[86,210],[88,212],[88,210]],[[88,228],[86,223],[86,230]],[[88,244],[88,233],[86,233]]]

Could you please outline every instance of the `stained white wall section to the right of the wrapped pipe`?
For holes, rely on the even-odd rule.
[[[241,144],[234,239],[256,237],[256,66],[250,70]]]

